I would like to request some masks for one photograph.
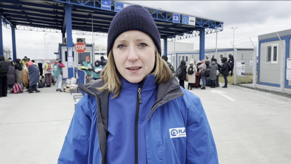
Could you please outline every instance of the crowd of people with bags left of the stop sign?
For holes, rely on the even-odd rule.
[[[26,92],[38,93],[40,90],[37,88],[51,87],[53,82],[56,83],[56,91],[63,92],[63,67],[65,65],[60,59],[56,59],[54,64],[49,59],[45,59],[43,64],[37,64],[25,56],[22,60],[16,59],[14,63],[11,58],[5,60],[4,56],[0,56],[0,97],[7,97],[8,90],[13,93],[15,84],[24,86]],[[42,82],[43,78],[45,82]]]

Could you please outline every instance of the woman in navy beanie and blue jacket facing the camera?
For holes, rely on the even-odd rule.
[[[145,8],[130,5],[115,15],[108,63],[101,79],[79,86],[86,95],[58,164],[218,163],[200,99],[179,86],[160,54],[159,31]]]

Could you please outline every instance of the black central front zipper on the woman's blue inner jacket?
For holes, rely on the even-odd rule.
[[[134,123],[134,163],[139,163],[138,158],[138,125],[139,125],[139,104],[141,104],[141,88],[143,87],[143,83],[145,82],[145,79],[142,81],[141,84],[139,84],[139,88],[137,90],[137,102],[136,102],[136,113],[135,113],[135,123]]]

